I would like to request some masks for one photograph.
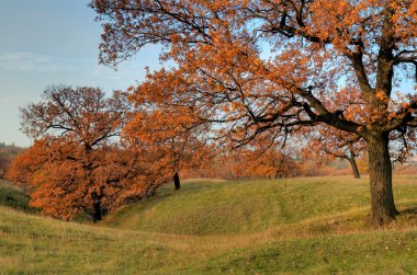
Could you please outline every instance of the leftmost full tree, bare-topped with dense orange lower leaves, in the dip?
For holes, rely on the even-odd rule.
[[[29,184],[31,204],[69,219],[77,213],[102,218],[105,208],[139,199],[153,185],[138,151],[117,144],[129,106],[125,95],[59,85],[24,108],[22,129],[35,144],[13,162],[9,177]]]

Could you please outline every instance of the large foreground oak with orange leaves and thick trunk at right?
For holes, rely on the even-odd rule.
[[[414,0],[92,0],[103,22],[101,62],[116,65],[162,44],[176,66],[136,94],[212,123],[229,144],[277,139],[327,124],[368,144],[370,222],[398,214],[390,137],[417,126]],[[395,87],[407,87],[395,95]],[[408,84],[408,85],[407,85]],[[353,91],[353,92],[352,92]],[[335,104],[336,102],[336,104]],[[360,106],[360,107],[358,107]],[[357,115],[360,112],[360,115]]]

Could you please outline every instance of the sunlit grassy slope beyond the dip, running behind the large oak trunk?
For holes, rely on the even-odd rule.
[[[417,205],[416,183],[417,177],[395,179],[394,192],[401,209]],[[369,193],[368,179],[350,177],[189,182],[178,193],[165,192],[115,211],[103,225],[178,234],[251,233],[335,216],[364,216]]]

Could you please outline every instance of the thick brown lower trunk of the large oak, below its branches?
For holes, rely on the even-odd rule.
[[[381,227],[398,215],[394,204],[388,134],[375,134],[368,140],[371,185],[370,222]]]

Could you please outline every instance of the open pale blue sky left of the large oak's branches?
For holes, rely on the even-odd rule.
[[[19,107],[38,102],[53,84],[90,85],[111,93],[157,69],[149,46],[117,71],[99,65],[101,26],[89,0],[0,0],[0,142],[30,146]]]

